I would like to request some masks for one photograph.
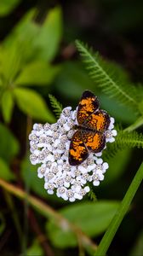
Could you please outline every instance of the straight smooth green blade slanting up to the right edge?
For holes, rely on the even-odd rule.
[[[139,188],[142,179],[143,179],[143,162],[140,165],[139,170],[136,172],[134,179],[130,184],[129,189],[126,195],[124,196],[123,201],[121,202],[121,205],[118,208],[114,218],[112,218],[111,224],[109,225],[105,235],[100,241],[100,245],[97,248],[97,251],[94,253],[94,256],[106,255],[106,252],[112,243],[112,239],[114,238],[117,232],[117,229],[123,220],[124,215],[129,210],[130,203],[133,200],[134,195],[137,189]]]

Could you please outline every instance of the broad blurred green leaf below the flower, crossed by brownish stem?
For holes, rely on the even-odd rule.
[[[115,201],[96,201],[78,203],[60,211],[72,224],[76,224],[87,236],[98,236],[106,230],[119,203]],[[58,227],[54,220],[47,223],[50,240],[55,247],[75,247],[77,238],[68,227]]]

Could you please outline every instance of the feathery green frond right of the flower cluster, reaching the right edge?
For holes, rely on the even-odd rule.
[[[104,158],[109,159],[117,154],[118,150],[124,148],[143,148],[143,134],[137,131],[117,131],[116,141],[107,145]]]

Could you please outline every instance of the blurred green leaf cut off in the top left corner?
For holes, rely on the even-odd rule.
[[[0,0],[0,15],[9,15],[21,0]]]

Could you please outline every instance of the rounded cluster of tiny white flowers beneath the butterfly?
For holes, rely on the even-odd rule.
[[[49,194],[54,194],[64,200],[82,200],[83,195],[89,192],[87,183],[98,186],[104,179],[108,164],[100,158],[102,152],[89,154],[79,166],[70,166],[68,153],[73,125],[77,125],[77,110],[71,107],[64,108],[57,123],[49,125],[35,124],[29,135],[31,164],[42,164],[37,169],[37,176],[44,178],[44,188]],[[117,131],[114,128],[114,119],[106,131],[106,142],[114,142]]]

